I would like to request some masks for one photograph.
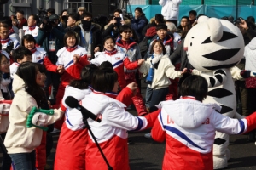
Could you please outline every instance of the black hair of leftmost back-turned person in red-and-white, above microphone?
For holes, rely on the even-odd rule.
[[[81,71],[80,80],[73,80],[69,82],[69,86],[72,86],[73,88],[79,88],[79,89],[86,89],[91,84],[91,79],[95,73],[95,71],[98,70],[98,67],[94,64],[86,65],[83,70]]]

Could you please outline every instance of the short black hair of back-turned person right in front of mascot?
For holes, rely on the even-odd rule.
[[[207,98],[207,92],[207,80],[197,75],[186,77],[179,88],[179,94],[181,96],[194,96],[199,101]]]

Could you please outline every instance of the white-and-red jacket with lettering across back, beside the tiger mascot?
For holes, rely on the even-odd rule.
[[[241,120],[232,119],[215,111],[220,110],[217,104],[177,99],[160,105],[162,109],[151,134],[156,141],[166,139],[164,170],[213,169],[215,131],[239,134],[256,127],[256,114]]]

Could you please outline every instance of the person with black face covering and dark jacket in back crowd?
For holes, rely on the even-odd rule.
[[[87,57],[94,58],[96,52],[100,52],[102,49],[102,32],[101,28],[92,23],[92,14],[84,12],[81,15],[81,41],[79,46],[87,49]]]

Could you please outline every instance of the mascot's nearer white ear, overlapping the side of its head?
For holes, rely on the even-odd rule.
[[[211,34],[211,41],[218,42],[223,36],[223,27],[220,20],[216,18],[210,18],[209,20],[207,20],[207,25]]]

